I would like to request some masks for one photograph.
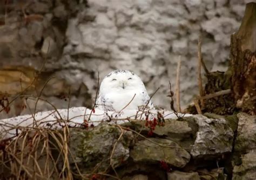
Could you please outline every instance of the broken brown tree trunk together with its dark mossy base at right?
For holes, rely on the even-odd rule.
[[[231,35],[230,66],[224,72],[206,73],[205,95],[231,90],[213,98],[204,98],[201,111],[220,115],[238,111],[256,114],[256,3],[246,4],[244,18],[237,33]],[[205,97],[206,97],[205,96]],[[196,114],[195,106],[187,112]]]

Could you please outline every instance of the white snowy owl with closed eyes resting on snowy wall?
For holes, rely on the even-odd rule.
[[[149,100],[150,97],[139,76],[128,70],[114,70],[100,84],[96,108],[120,112],[138,110],[138,107],[147,105],[151,109],[154,106]]]

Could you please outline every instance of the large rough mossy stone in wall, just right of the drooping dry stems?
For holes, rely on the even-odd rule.
[[[105,171],[111,168],[110,163],[114,168],[121,165],[129,157],[129,146],[133,143],[133,135],[131,132],[123,131],[122,138],[121,130],[118,127],[102,124],[90,130],[70,131],[70,163],[77,163],[80,171],[90,172],[96,166],[97,171]],[[117,142],[117,143],[116,143]],[[114,144],[116,143],[116,147]],[[110,156],[113,152],[112,159]],[[73,168],[76,169],[75,164]]]

